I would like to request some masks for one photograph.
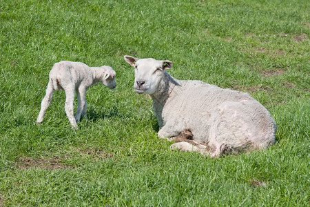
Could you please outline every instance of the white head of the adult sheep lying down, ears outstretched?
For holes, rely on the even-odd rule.
[[[156,59],[138,59],[124,56],[127,63],[136,68],[134,70],[134,90],[138,93],[152,95],[165,75],[165,70],[172,67],[172,61],[158,61]]]

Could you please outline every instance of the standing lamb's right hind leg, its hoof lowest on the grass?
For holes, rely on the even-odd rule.
[[[77,129],[78,126],[73,116],[74,86],[67,86],[63,89],[65,90],[65,113],[72,128]]]

